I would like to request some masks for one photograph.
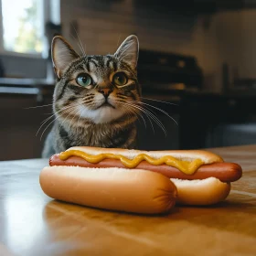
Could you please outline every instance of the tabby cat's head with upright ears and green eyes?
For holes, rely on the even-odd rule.
[[[62,37],[55,37],[52,57],[59,79],[54,110],[60,119],[111,123],[139,112],[137,37],[127,37],[114,55],[82,57]]]

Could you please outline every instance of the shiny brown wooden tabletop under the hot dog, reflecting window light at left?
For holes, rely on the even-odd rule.
[[[256,255],[256,145],[212,149],[244,170],[228,199],[144,217],[45,196],[47,159],[0,162],[0,255]]]

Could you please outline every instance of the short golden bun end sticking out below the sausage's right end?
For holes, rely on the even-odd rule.
[[[208,206],[217,204],[229,196],[230,183],[208,177],[201,180],[171,178],[177,189],[177,204],[190,206]]]

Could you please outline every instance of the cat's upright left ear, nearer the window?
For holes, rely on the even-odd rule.
[[[63,37],[53,37],[51,43],[51,58],[56,75],[59,79],[70,62],[79,57],[80,56]]]

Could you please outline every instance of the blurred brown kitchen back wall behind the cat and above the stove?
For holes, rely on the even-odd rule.
[[[95,3],[96,2],[96,3]],[[113,53],[129,34],[137,34],[140,48],[195,56],[205,75],[208,91],[222,90],[222,65],[230,67],[230,80],[255,78],[256,10],[222,11],[207,16],[177,16],[137,7],[133,0],[61,1],[64,36],[78,47],[70,22],[77,20],[78,34],[88,54]]]

